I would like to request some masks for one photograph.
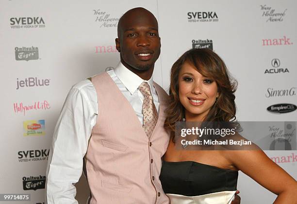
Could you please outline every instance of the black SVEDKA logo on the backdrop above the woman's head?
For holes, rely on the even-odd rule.
[[[188,12],[188,22],[218,22],[218,17],[215,12]]]

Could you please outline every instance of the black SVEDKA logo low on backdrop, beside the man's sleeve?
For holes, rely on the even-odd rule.
[[[49,149],[18,151],[17,155],[18,162],[48,160]]]

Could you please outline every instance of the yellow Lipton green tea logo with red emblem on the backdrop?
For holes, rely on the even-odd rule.
[[[26,120],[23,121],[24,136],[45,135],[45,120]]]

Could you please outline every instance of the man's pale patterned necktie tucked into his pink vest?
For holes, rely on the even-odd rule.
[[[140,92],[144,95],[144,100],[142,104],[143,128],[148,138],[150,138],[158,121],[158,112],[153,102],[153,98],[150,93],[148,83],[142,82],[138,88]]]

